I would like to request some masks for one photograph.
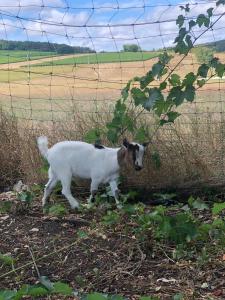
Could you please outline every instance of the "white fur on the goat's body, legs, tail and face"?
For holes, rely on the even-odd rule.
[[[109,183],[113,196],[118,201],[117,180],[120,166],[118,151],[120,148],[97,149],[94,145],[79,141],[64,141],[48,149],[48,139],[41,136],[37,139],[39,150],[50,164],[48,171],[49,181],[45,186],[42,199],[43,206],[58,181],[62,184],[62,194],[68,199],[72,208],[78,207],[78,201],[72,196],[70,185],[72,176],[91,179],[91,196],[98,190],[101,183]],[[144,147],[140,146],[140,155],[135,163],[142,167]]]

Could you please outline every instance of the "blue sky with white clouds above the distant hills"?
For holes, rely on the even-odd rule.
[[[65,43],[99,51],[120,51],[124,44],[143,50],[173,45],[180,5],[188,17],[215,7],[213,20],[225,12],[216,0],[0,0],[0,39]],[[225,16],[199,43],[225,39]],[[203,29],[194,32],[198,36]]]

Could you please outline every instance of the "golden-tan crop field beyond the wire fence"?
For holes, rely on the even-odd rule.
[[[103,53],[105,54],[105,53]],[[220,54],[221,59],[224,56]],[[77,58],[87,59],[87,56]],[[45,63],[48,58],[44,58]],[[49,58],[51,61],[54,58]],[[57,61],[59,57],[57,58]],[[42,59],[40,59],[42,60]],[[71,56],[68,60],[73,60]],[[174,58],[171,66],[178,60]],[[112,104],[120,97],[120,91],[134,76],[145,74],[156,59],[133,62],[37,66],[36,60],[24,67],[24,63],[11,64],[12,69],[0,69],[0,103],[16,116],[33,120],[68,119],[72,111],[92,113],[112,111]],[[34,65],[32,65],[34,63]],[[18,64],[18,65],[17,65]],[[179,67],[178,74],[196,72],[198,64],[193,55],[188,56]],[[158,82],[153,82],[158,84]],[[218,89],[220,86],[220,90]],[[220,103],[214,101],[215,93],[222,93],[224,79],[211,79],[198,93],[198,104],[187,105],[185,111],[198,109],[207,112],[207,107],[219,111]],[[207,90],[207,91],[206,91]],[[205,100],[208,100],[205,102]],[[197,106],[196,106],[197,105]]]

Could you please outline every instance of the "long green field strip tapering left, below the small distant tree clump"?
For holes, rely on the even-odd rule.
[[[108,52],[94,53],[73,58],[64,58],[49,63],[38,64],[39,66],[49,65],[75,65],[75,64],[98,64],[113,62],[129,62],[148,60],[157,57],[159,52]]]

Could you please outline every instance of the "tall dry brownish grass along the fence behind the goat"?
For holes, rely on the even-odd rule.
[[[183,111],[187,114],[180,117],[175,125],[164,126],[158,131],[146,154],[144,170],[141,173],[132,170],[122,172],[125,175],[124,187],[154,189],[224,183],[225,116],[220,106],[211,107],[216,110],[215,114],[209,107],[208,113],[207,110],[203,113],[200,108],[198,104],[184,106]],[[44,182],[46,174],[40,172],[42,161],[36,137],[47,135],[50,145],[65,139],[83,140],[87,130],[105,125],[111,117],[108,110],[109,107],[105,106],[101,114],[87,115],[74,109],[68,120],[49,123],[25,123],[1,112],[1,186],[11,185],[18,179],[28,183]],[[154,131],[154,119],[149,115],[144,117],[148,124],[152,124],[149,127]],[[160,155],[159,169],[152,159],[155,151]],[[79,184],[83,185],[82,182]]]

